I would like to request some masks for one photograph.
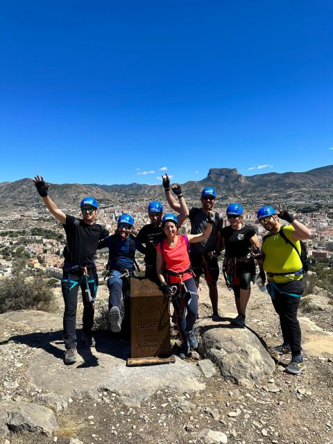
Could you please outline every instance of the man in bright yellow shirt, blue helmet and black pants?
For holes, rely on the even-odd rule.
[[[282,227],[278,217],[290,225]],[[268,280],[266,288],[280,317],[283,336],[282,345],[272,350],[281,355],[291,352],[291,361],[286,371],[298,374],[305,369],[297,318],[300,296],[304,292],[300,241],[309,239],[311,232],[287,210],[282,210],[281,206],[276,214],[273,207],[265,205],[257,211],[257,218],[268,231],[262,239],[263,266]]]

